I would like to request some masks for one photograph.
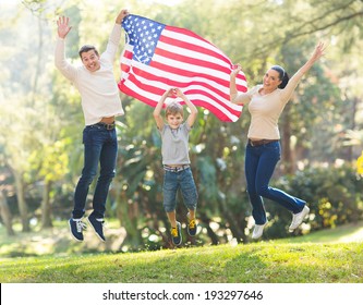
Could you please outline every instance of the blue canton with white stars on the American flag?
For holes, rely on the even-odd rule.
[[[133,60],[148,65],[166,25],[137,15],[128,15],[122,27],[126,32],[126,44],[134,47]]]

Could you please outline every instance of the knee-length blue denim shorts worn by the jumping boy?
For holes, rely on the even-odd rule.
[[[164,209],[166,212],[174,211],[177,208],[177,193],[181,190],[184,205],[191,210],[196,209],[197,192],[191,168],[179,172],[165,171],[164,174]]]

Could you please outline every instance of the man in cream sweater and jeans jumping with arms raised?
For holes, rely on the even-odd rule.
[[[75,187],[74,208],[69,220],[72,236],[82,242],[82,222],[85,213],[88,188],[93,182],[98,163],[100,172],[93,198],[93,212],[87,220],[97,236],[105,242],[104,217],[106,199],[110,183],[116,172],[118,142],[114,129],[114,118],[123,115],[119,89],[113,75],[113,60],[120,44],[121,23],[129,14],[122,10],[117,19],[106,51],[99,56],[94,46],[83,46],[80,49],[82,65],[73,66],[64,56],[64,40],[71,30],[69,17],[61,16],[57,21],[58,39],[55,54],[56,66],[78,89],[82,98],[82,109],[85,119],[83,131],[84,167]]]

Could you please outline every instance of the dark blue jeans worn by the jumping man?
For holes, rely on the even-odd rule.
[[[96,218],[104,218],[109,186],[116,174],[118,154],[116,129],[107,130],[105,126],[88,125],[83,131],[83,144],[84,167],[75,187],[72,217],[83,217],[89,185],[97,174],[99,163],[100,170],[94,193],[92,215]]]

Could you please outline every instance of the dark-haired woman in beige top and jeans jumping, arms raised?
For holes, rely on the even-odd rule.
[[[263,85],[257,85],[247,93],[239,94],[237,90],[235,75],[241,71],[239,64],[230,75],[231,102],[249,103],[251,113],[245,150],[245,175],[252,216],[255,220],[252,239],[259,239],[267,224],[263,197],[276,202],[292,212],[290,232],[302,223],[310,211],[304,200],[270,187],[268,184],[281,155],[278,119],[300,80],[324,54],[324,50],[325,45],[319,42],[312,57],[290,80],[281,66],[271,66],[264,76]]]

